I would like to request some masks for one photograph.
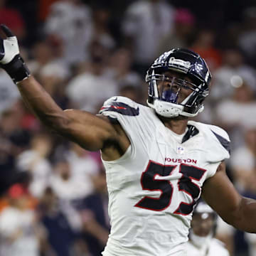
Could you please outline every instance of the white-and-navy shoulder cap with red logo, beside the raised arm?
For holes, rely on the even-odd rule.
[[[127,97],[115,96],[106,100],[100,109],[100,114],[105,112],[117,112],[128,116],[139,115],[139,105]]]

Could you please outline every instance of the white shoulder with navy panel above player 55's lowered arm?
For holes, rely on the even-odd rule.
[[[210,139],[210,141],[215,140],[215,142],[220,143],[228,152],[230,151],[230,138],[224,129],[216,125],[201,122],[189,121],[188,124],[195,126],[206,139]]]

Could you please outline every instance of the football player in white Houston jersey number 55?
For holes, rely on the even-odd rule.
[[[58,134],[101,151],[112,225],[102,255],[186,255],[201,194],[227,223],[256,232],[256,201],[240,196],[225,174],[228,134],[188,121],[209,93],[211,75],[198,54],[176,48],[156,59],[146,73],[149,107],[117,96],[94,115],[60,109],[30,74],[16,36],[1,29],[1,68],[28,107]]]

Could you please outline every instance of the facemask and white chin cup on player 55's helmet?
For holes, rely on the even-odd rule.
[[[161,116],[194,117],[198,112],[203,111],[202,102],[208,95],[203,82],[200,80],[191,82],[179,77],[180,75],[176,77],[175,75],[155,74],[155,70],[151,70],[151,74],[146,75],[146,82],[149,82],[147,103]]]

